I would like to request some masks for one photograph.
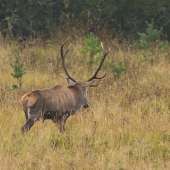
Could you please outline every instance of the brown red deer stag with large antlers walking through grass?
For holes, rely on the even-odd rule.
[[[59,125],[60,132],[64,132],[67,118],[70,115],[74,115],[80,107],[89,107],[86,88],[97,86],[98,84],[92,85],[94,79],[102,79],[106,76],[105,74],[103,77],[97,77],[106,55],[109,53],[109,51],[104,51],[101,43],[103,49],[103,59],[95,74],[86,83],[77,82],[74,78],[72,78],[67,72],[65,66],[65,56],[69,48],[63,55],[63,46],[68,39],[65,40],[61,46],[61,57],[69,86],[65,87],[57,85],[52,88],[35,90],[22,96],[21,103],[27,121],[25,125],[21,127],[22,133],[29,131],[35,121],[39,120],[40,117],[43,118],[43,121],[46,119],[51,119],[54,123]]]

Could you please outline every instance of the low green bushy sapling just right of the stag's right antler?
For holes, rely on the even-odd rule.
[[[119,65],[116,65],[115,63],[112,64],[112,73],[114,73],[116,79],[119,79],[121,73],[125,70],[126,67],[123,66],[122,61],[119,61]]]

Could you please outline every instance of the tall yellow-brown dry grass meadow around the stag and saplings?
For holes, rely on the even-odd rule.
[[[21,96],[67,86],[60,57],[64,40],[30,39],[23,48],[0,37],[0,169],[170,169],[170,53],[159,54],[151,65],[128,42],[103,41],[106,51],[111,48],[107,59],[121,60],[127,69],[116,80],[109,66],[102,67],[99,75],[107,76],[89,88],[90,107],[68,118],[64,134],[51,120],[21,133],[26,122]],[[98,64],[90,66],[88,55],[80,54],[81,37],[70,42],[67,70],[85,82]],[[19,91],[10,75],[16,59],[27,68]]]

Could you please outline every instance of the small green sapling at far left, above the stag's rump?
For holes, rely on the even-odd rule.
[[[11,67],[14,70],[14,73],[11,73],[11,75],[18,80],[19,88],[21,88],[22,85],[22,77],[24,74],[26,74],[26,68],[23,68],[23,64],[18,64],[18,60],[15,61],[14,64],[10,63]],[[16,88],[16,85],[13,85],[13,87]]]

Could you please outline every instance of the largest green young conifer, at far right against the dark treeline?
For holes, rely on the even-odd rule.
[[[138,32],[138,35],[140,36],[140,43],[135,45],[136,49],[149,51],[151,56],[151,64],[153,64],[153,56],[156,53],[156,51],[163,52],[165,51],[165,48],[167,47],[167,42],[161,42],[160,36],[162,34],[163,28],[161,27],[158,31],[157,29],[154,29],[154,20],[152,19],[151,23],[149,24],[146,21],[147,29],[146,33],[140,33]],[[163,50],[161,50],[163,49]],[[147,60],[147,55],[142,53],[144,60]],[[144,61],[143,60],[143,61]]]

